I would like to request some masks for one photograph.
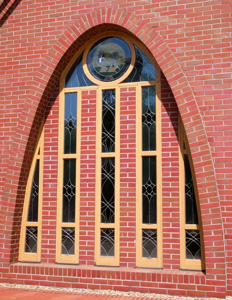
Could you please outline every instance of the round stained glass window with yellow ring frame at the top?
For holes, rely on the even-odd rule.
[[[101,38],[83,53],[86,76],[101,85],[122,82],[131,72],[134,61],[133,44],[116,36]]]

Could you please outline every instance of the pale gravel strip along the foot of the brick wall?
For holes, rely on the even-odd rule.
[[[185,297],[175,295],[163,295],[156,293],[141,293],[133,291],[117,291],[109,289],[86,289],[86,288],[65,288],[65,287],[53,287],[53,286],[41,286],[41,285],[24,285],[24,284],[10,284],[0,283],[0,288],[21,288],[23,290],[38,290],[38,291],[49,291],[49,292],[64,292],[64,293],[81,293],[81,294],[106,294],[106,295],[117,295],[117,296],[131,296],[140,298],[161,298],[161,299],[175,299],[175,300],[221,300],[221,298],[201,298],[201,297]],[[226,300],[232,300],[232,296],[227,296]]]

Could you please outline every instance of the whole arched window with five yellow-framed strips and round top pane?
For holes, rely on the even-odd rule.
[[[60,77],[56,262],[162,267],[161,122],[160,70],[144,45],[111,30],[77,51]],[[197,269],[200,246],[192,249],[192,240],[200,244],[199,225],[183,126],[179,136],[181,267]],[[22,261],[40,259],[42,140],[41,133],[25,196]]]

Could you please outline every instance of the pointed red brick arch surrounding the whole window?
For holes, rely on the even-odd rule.
[[[37,70],[32,87],[22,109],[11,147],[8,170],[1,201],[0,243],[8,243],[4,263],[17,261],[17,247],[21,203],[28,176],[37,131],[46,104],[65,65],[89,37],[108,29],[117,29],[136,36],[153,54],[164,73],[175,97],[186,130],[196,173],[201,216],[204,231],[206,274],[223,275],[224,244],[219,196],[216,187],[213,161],[199,109],[191,87],[168,45],[154,28],[130,12],[121,9],[97,9],[82,15],[60,36]],[[214,257],[214,251],[220,253]],[[220,262],[219,271],[217,262]]]

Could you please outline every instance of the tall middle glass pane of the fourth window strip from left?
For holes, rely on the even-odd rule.
[[[142,157],[142,223],[156,224],[156,157]]]

